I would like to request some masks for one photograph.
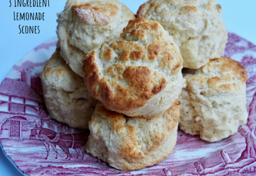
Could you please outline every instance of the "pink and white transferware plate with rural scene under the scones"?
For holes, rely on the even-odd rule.
[[[55,51],[57,38],[18,62],[0,86],[0,142],[5,154],[30,176],[228,176],[256,175],[256,46],[228,34],[224,56],[248,72],[246,125],[220,142],[205,142],[178,131],[174,152],[151,167],[122,172],[84,152],[88,131],[52,120],[44,106],[38,75]]]

